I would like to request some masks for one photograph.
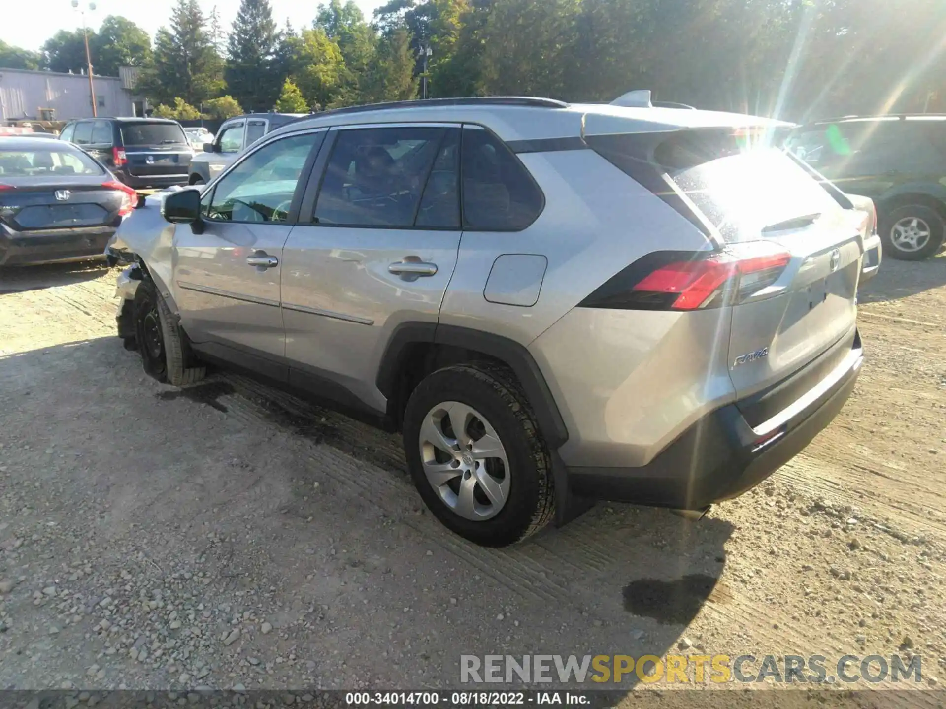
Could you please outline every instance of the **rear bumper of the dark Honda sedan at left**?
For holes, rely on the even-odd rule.
[[[104,256],[114,227],[11,232],[0,228],[0,266],[35,266]]]

